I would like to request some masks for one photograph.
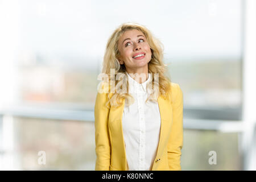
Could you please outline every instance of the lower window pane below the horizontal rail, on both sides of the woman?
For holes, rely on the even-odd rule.
[[[94,170],[93,122],[15,118],[14,133],[15,152],[5,155],[14,154],[16,169]],[[240,133],[185,129],[181,169],[242,170],[238,137]],[[46,154],[46,164],[40,151]]]

